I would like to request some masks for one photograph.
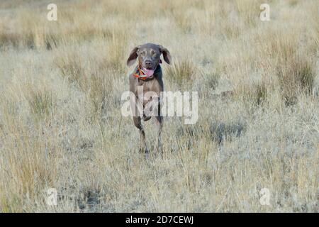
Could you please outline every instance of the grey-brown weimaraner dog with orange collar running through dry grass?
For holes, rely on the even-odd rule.
[[[148,149],[145,142],[145,131],[141,119],[143,121],[148,121],[152,116],[155,117],[155,124],[158,132],[157,151],[162,151],[161,133],[163,119],[160,114],[159,100],[160,92],[163,92],[164,90],[162,68],[159,65],[162,63],[160,58],[162,54],[164,61],[167,62],[167,64],[170,64],[172,57],[167,48],[162,47],[162,45],[146,43],[135,47],[132,52],[130,52],[130,57],[128,57],[126,62],[128,66],[131,66],[138,58],[138,65],[129,76],[130,92],[131,94],[134,94],[130,97],[130,107],[133,111],[134,124],[140,131],[140,151],[143,153],[148,153]],[[144,94],[144,96],[140,96],[140,93]],[[146,96],[145,93],[155,95]],[[147,104],[150,104],[151,101],[153,104],[155,103],[156,106],[156,109],[152,109],[152,116],[150,115],[150,112],[146,113],[146,106],[150,106]]]

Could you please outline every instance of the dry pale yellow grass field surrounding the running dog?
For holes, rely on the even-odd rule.
[[[318,212],[318,22],[316,0],[1,1],[0,212]],[[199,98],[162,155],[145,123],[145,158],[121,94],[149,42]]]

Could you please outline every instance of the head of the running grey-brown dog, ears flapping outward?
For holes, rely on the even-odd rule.
[[[135,47],[131,52],[126,64],[128,66],[133,65],[138,58],[138,62],[141,67],[150,72],[154,72],[159,63],[161,62],[161,55],[163,54],[164,61],[167,64],[172,62],[172,57],[167,48],[162,45],[154,43],[145,43]]]

